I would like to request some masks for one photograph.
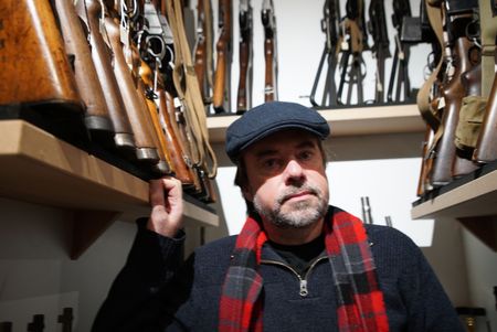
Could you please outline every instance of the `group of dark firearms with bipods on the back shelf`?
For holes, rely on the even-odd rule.
[[[393,0],[392,25],[395,51],[390,78],[385,82],[385,62],[392,57],[384,0],[347,0],[341,17],[339,0],[325,0],[321,30],[326,41],[310,92],[315,107],[413,101],[415,90],[409,79],[410,47],[421,39],[420,18],[411,14],[409,0]],[[369,20],[366,19],[368,12]],[[369,36],[372,45],[368,44]],[[363,94],[367,77],[364,54],[374,60],[374,97]],[[326,73],[325,73],[325,67]],[[318,88],[320,92],[318,93]],[[320,96],[320,100],[318,100]]]

